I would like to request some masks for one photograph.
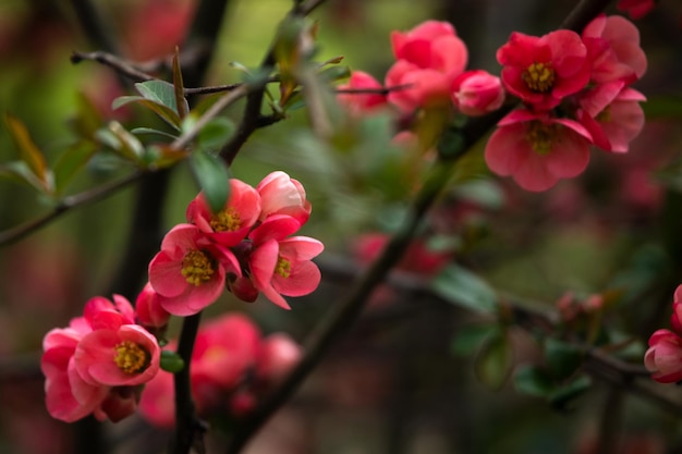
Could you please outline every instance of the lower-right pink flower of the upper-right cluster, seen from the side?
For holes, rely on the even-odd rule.
[[[640,101],[646,98],[622,86],[622,81],[601,84],[579,97],[582,109],[577,120],[589,131],[595,145],[607,151],[626,152],[630,142],[644,127]]]

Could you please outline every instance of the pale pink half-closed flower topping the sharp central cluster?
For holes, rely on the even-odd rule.
[[[284,172],[270,173],[258,183],[256,191],[260,195],[261,221],[272,214],[287,214],[303,225],[310,217],[312,208],[305,198],[305,188]]]

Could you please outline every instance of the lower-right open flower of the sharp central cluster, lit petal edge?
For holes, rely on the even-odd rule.
[[[307,236],[265,240],[248,258],[254,287],[276,305],[290,309],[282,295],[307,295],[319,285],[321,275],[310,259],[322,249],[319,241]]]

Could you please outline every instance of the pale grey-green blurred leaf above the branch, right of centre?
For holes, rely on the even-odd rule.
[[[447,302],[476,312],[492,312],[497,307],[497,295],[488,283],[455,263],[431,281],[431,290]]]

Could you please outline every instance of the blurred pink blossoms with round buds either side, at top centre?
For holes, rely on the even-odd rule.
[[[339,95],[352,113],[389,105],[406,116],[451,106],[467,115],[482,115],[502,105],[499,77],[483,70],[465,71],[468,51],[450,23],[426,21],[409,32],[392,32],[391,45],[395,62],[386,74],[388,95],[363,71],[354,71],[349,83],[339,86],[357,91]]]

